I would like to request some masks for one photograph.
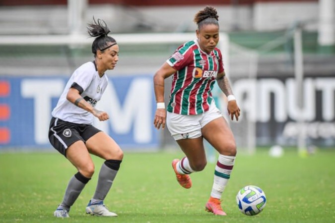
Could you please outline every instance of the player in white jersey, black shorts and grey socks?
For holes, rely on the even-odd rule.
[[[94,107],[108,84],[105,71],[114,69],[119,60],[119,46],[114,38],[107,35],[110,30],[103,20],[93,19],[87,29],[89,35],[95,37],[92,44],[94,60],[82,64],[73,72],[52,111],[49,129],[50,143],[78,170],[68,182],[63,201],[54,213],[55,217],[61,218],[69,217],[71,206],[94,173],[90,154],[105,162],[86,213],[117,216],[106,208],[104,199],[118,173],[123,152],[110,136],[95,128],[92,123],[94,116],[100,121],[109,118],[105,111],[98,111]]]

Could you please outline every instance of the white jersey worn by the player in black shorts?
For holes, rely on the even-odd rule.
[[[78,67],[70,77],[67,85],[52,111],[52,116],[77,124],[93,124],[93,114],[85,111],[67,100],[67,92],[71,87],[79,90],[79,94],[93,107],[101,99],[108,85],[108,77],[99,76],[95,62],[87,62]]]

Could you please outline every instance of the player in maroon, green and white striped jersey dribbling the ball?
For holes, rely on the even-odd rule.
[[[228,97],[228,114],[238,120],[240,109],[225,76],[219,41],[218,15],[215,8],[206,6],[194,18],[198,25],[197,39],[180,46],[155,73],[154,90],[157,110],[154,125],[167,127],[185,153],[175,159],[172,167],[179,184],[192,186],[189,174],[206,166],[203,146],[205,138],[219,153],[214,182],[205,210],[214,215],[226,215],[221,207],[221,195],[230,178],[236,156],[233,133],[211,95],[215,80]],[[167,114],[164,104],[164,79],[173,75]]]

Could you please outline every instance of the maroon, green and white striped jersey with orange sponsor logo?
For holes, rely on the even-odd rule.
[[[188,115],[208,111],[216,75],[224,71],[221,51],[215,48],[207,54],[193,40],[181,45],[166,62],[177,70],[167,111]]]

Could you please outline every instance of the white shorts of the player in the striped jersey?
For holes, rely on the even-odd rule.
[[[194,139],[202,135],[203,126],[219,117],[223,117],[221,111],[216,108],[215,103],[211,103],[209,110],[201,114],[185,115],[168,111],[166,126],[175,140]]]

